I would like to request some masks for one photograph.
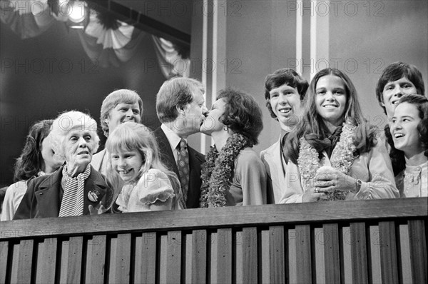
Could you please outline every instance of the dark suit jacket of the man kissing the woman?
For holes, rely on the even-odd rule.
[[[163,132],[162,128],[157,128],[156,131],[154,131],[154,134],[156,137],[156,141],[158,141],[162,163],[164,163],[170,171],[173,171],[177,176],[179,176],[173,150],[171,149],[168,138],[166,138],[166,135]],[[190,178],[187,202],[185,203],[185,205],[187,208],[199,208],[200,185],[202,183],[202,181],[200,180],[200,165],[205,162],[205,156],[196,151],[195,149],[191,148],[190,146],[188,146],[188,152]]]

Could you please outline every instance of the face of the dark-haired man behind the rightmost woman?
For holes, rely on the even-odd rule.
[[[386,83],[382,91],[382,106],[386,108],[389,119],[394,116],[394,110],[397,107],[399,98],[410,93],[417,93],[417,89],[406,77]]]

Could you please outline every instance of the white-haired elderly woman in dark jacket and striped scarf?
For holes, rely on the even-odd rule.
[[[55,119],[50,135],[52,148],[66,164],[51,176],[29,182],[14,220],[88,215],[90,207],[111,203],[111,189],[90,165],[99,143],[96,121],[68,111]]]

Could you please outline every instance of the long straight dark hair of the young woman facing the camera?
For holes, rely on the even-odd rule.
[[[376,129],[369,126],[362,116],[357,90],[355,89],[351,79],[338,69],[322,69],[315,74],[314,78],[312,78],[312,81],[310,82],[305,98],[305,111],[303,117],[299,123],[297,123],[294,131],[289,134],[289,143],[285,146],[285,156],[295,164],[297,164],[297,158],[299,157],[301,137],[305,137],[310,146],[315,148],[317,151],[320,151],[320,148],[323,146],[322,141],[327,138],[329,134],[324,119],[320,116],[320,113],[318,113],[315,103],[317,82],[321,77],[327,75],[342,78],[342,81],[345,84],[347,102],[345,113],[343,114],[343,120],[350,121],[350,123],[357,126],[354,142],[355,147],[357,148],[357,153],[369,152],[375,145],[374,136]]]

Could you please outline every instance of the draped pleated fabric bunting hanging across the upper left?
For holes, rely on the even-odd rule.
[[[4,2],[1,4],[0,20],[21,39],[43,34],[56,21],[64,24],[68,21],[67,11],[52,11],[47,0]],[[113,28],[107,28],[108,25],[100,20],[98,12],[94,10],[88,15],[90,16],[85,29],[76,31],[83,50],[90,59],[98,61],[99,66],[118,67],[132,59],[140,44],[150,44],[149,41],[153,41],[163,76],[188,77],[190,60],[183,59],[172,42],[157,36],[148,36],[145,31],[118,20],[113,20],[116,21],[112,25]]]

